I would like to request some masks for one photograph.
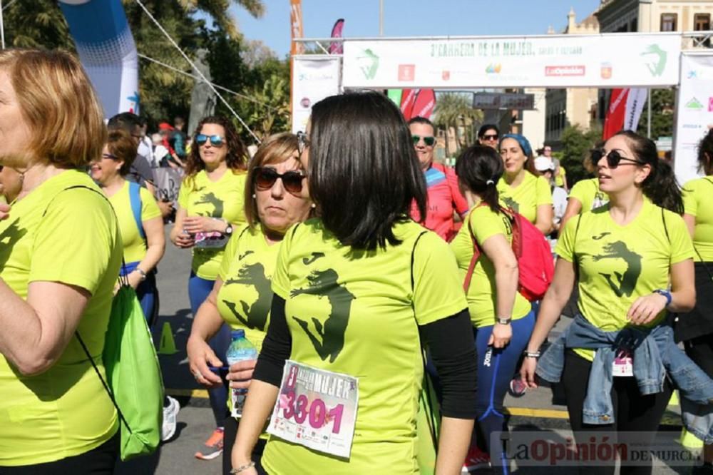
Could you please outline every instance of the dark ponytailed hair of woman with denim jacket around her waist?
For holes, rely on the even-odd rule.
[[[650,139],[632,131],[620,131],[615,136],[626,138],[637,160],[650,165],[651,173],[641,184],[642,191],[652,203],[661,208],[683,214],[681,187],[676,180],[670,163],[659,158],[656,144]]]

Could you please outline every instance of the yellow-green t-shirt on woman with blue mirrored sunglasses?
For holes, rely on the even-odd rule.
[[[200,170],[193,180],[184,179],[181,183],[178,205],[188,216],[210,216],[233,225],[245,224],[243,193],[246,176],[242,170],[228,169],[218,180],[212,181],[205,170]],[[222,249],[194,247],[191,268],[201,279],[215,280],[222,255]]]

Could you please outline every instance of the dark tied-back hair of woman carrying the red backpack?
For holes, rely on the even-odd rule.
[[[466,148],[456,161],[456,175],[461,184],[476,193],[496,213],[500,213],[497,185],[503,170],[503,159],[498,152],[485,145]]]

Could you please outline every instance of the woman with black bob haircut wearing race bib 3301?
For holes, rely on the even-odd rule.
[[[409,128],[385,96],[348,93],[314,105],[309,133],[300,160],[321,217],[282,241],[270,327],[243,375],[252,382],[233,469],[418,471],[423,340],[443,384],[436,473],[460,473],[475,417],[473,332],[455,257],[407,217],[412,200],[423,215],[426,195]]]

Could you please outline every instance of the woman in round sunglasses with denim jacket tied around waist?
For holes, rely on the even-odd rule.
[[[695,302],[693,248],[680,216],[683,202],[670,165],[659,160],[652,141],[630,131],[617,133],[596,155],[600,189],[610,201],[571,219],[560,235],[554,280],[540,306],[523,362],[523,379],[529,387],[536,387],[540,345],[559,319],[575,275],[579,277],[578,325],[603,332],[625,327],[646,330],[662,324],[667,312],[687,312]],[[597,344],[606,346],[590,331],[595,342],[589,347],[566,347],[565,342],[561,375],[570,425],[580,444],[588,440],[587,431],[592,427],[583,422],[583,407],[590,372],[595,374],[595,358],[601,353],[595,356],[594,349]],[[671,384],[664,379],[661,392],[640,394],[632,361],[635,350],[625,348],[626,342],[615,341],[615,346],[607,348],[620,357],[610,362],[610,371],[602,371],[601,380],[602,384],[611,382],[612,401],[617,404],[612,415],[606,415],[608,419],[599,419],[604,422],[613,417],[614,424],[596,427],[637,431],[644,434],[637,442],[651,443],[669,402]],[[674,346],[672,339],[670,344]],[[599,362],[602,364],[601,359]],[[622,466],[622,473],[630,473],[630,469]]]

